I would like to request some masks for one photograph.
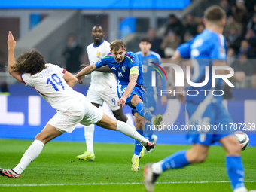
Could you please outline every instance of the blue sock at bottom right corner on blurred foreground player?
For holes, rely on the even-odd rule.
[[[231,187],[233,190],[239,187],[245,187],[244,177],[245,171],[242,166],[241,157],[226,157],[227,175],[231,181]]]

